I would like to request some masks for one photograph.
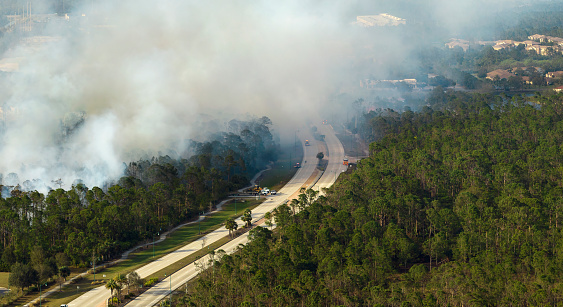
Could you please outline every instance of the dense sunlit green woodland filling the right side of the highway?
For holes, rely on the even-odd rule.
[[[431,98],[372,116],[369,158],[178,305],[563,304],[563,95]]]

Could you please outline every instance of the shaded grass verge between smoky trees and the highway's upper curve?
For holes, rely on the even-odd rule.
[[[274,163],[272,169],[265,172],[260,180],[260,186],[268,187],[271,190],[281,189],[297,172],[293,167],[295,163],[303,160],[303,148],[293,145],[282,147],[278,161]]]

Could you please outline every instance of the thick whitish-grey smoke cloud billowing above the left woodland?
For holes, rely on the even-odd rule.
[[[123,162],[181,153],[186,139],[221,130],[210,119],[256,114],[291,126],[408,54],[397,31],[351,25],[399,13],[367,3],[86,1],[47,25],[44,35],[60,40],[10,51],[25,61],[0,97],[0,173],[99,186]]]

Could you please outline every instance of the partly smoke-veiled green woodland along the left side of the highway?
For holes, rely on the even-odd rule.
[[[31,281],[13,283],[26,287],[60,267],[108,260],[197,217],[275,160],[271,124],[267,117],[233,120],[213,141],[192,142],[188,159],[130,163],[127,176],[105,191],[77,184],[43,195],[16,186],[0,198],[0,268],[31,266]]]

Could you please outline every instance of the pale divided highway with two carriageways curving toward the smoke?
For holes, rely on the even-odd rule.
[[[317,182],[319,188],[325,188],[334,183],[337,176],[346,170],[346,166],[342,165],[342,160],[344,158],[344,149],[342,144],[335,136],[332,127],[329,125],[322,125],[318,128],[319,133],[325,134],[325,141],[328,148],[328,166],[324,174],[320,177]],[[311,135],[309,129],[300,129],[299,138],[301,140],[308,139],[311,142],[311,146],[303,146],[304,157],[301,163],[301,168],[297,171],[295,176],[280,190],[277,195],[268,196],[267,200],[263,202],[260,206],[252,210],[252,221],[256,222],[264,217],[264,214],[268,211],[273,210],[277,206],[288,200],[288,197],[295,194],[299,189],[306,183],[309,177],[313,174],[318,153],[318,147],[316,141]],[[304,144],[303,144],[304,145]],[[325,153],[327,154],[327,153]],[[243,225],[240,219],[236,221],[239,226]],[[207,245],[219,240],[228,235],[228,230],[225,227],[221,227],[208,235],[206,235],[205,243]],[[200,250],[202,248],[202,240],[200,238],[186,246],[166,255],[162,258],[157,259],[141,268],[136,272],[141,278],[145,278],[161,269],[179,261],[180,259]],[[224,250],[227,253],[233,253],[236,251],[239,244],[245,244],[248,242],[248,232],[237,237],[236,239],[229,241],[225,245],[221,246],[219,249]],[[178,272],[174,273],[172,277],[168,277],[153,286],[145,293],[141,294],[135,300],[131,301],[127,306],[153,306],[170,294],[170,289],[175,290],[180,286],[184,285],[187,281],[191,280],[198,274],[198,269],[195,264],[192,263]],[[170,278],[172,280],[170,280]],[[106,306],[106,301],[110,297],[110,291],[105,289],[105,286],[95,288],[84,295],[78,297],[76,300],[69,303],[71,307],[101,307]]]

